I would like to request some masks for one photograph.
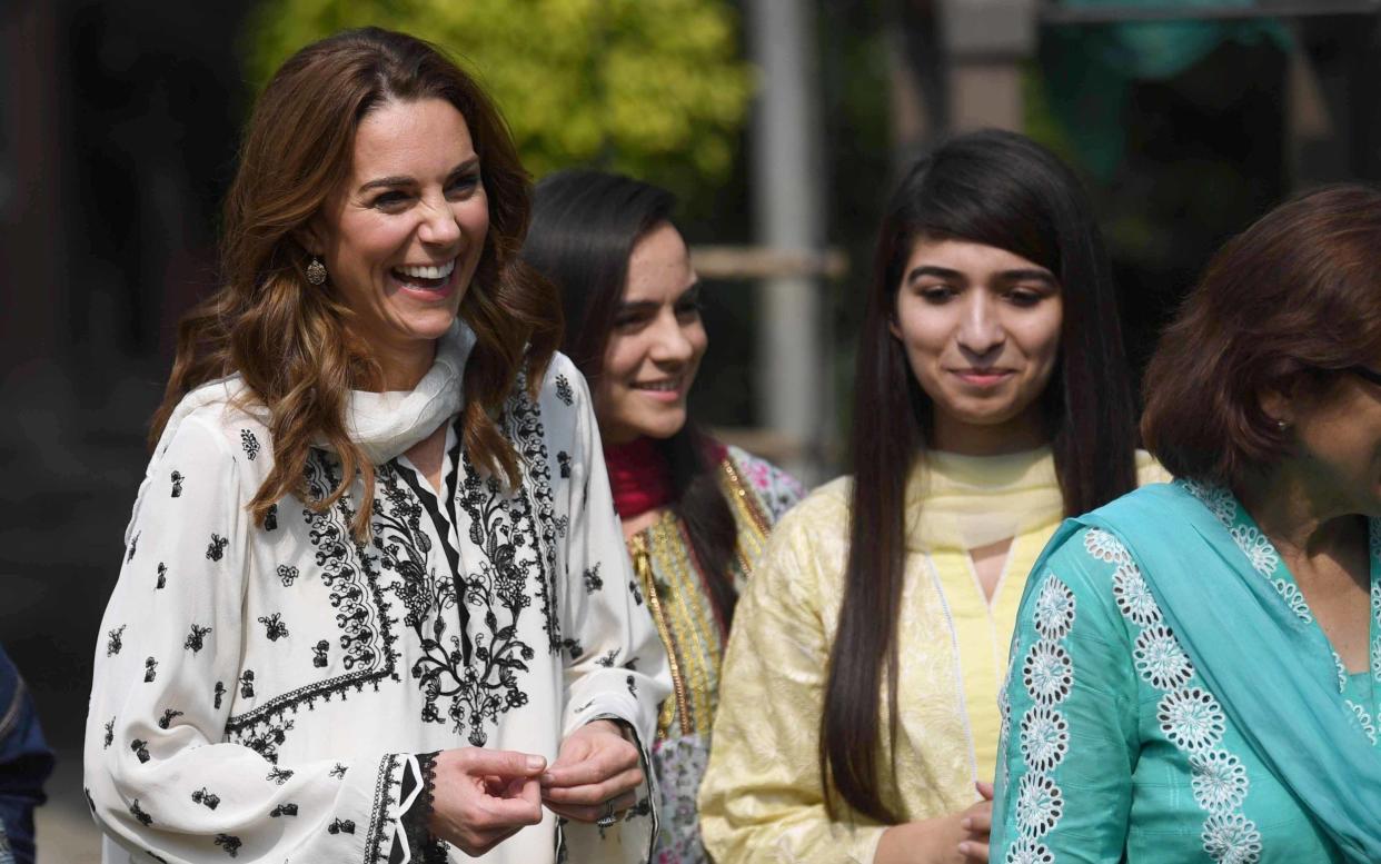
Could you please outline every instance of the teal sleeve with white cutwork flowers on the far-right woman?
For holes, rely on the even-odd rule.
[[[1139,749],[1139,660],[1120,607],[1137,614],[1149,593],[1102,538],[1070,536],[1033,577],[1018,613],[1001,698],[992,861],[1123,858]]]

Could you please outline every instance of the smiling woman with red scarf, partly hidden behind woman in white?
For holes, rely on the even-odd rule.
[[[690,257],[670,221],[674,203],[627,177],[563,171],[537,186],[523,247],[562,293],[562,351],[590,380],[634,595],[671,658],[674,693],[653,749],[659,864],[708,861],[695,798],[733,606],[772,523],[802,494],[794,479],[689,418],[686,396],[708,338]]]

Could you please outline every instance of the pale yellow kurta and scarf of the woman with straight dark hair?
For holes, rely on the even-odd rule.
[[[1138,453],[1138,480],[1168,479]],[[819,778],[819,723],[844,596],[851,480],[829,483],[778,523],[739,602],[721,672],[715,747],[700,829],[720,864],[870,864],[885,829],[845,810],[831,821]],[[1062,518],[1050,450],[928,454],[907,482],[906,574],[895,763],[903,820],[964,809],[992,780],[997,694],[1026,574]],[[968,549],[1012,538],[993,599]],[[888,727],[880,696],[881,729]],[[894,754],[885,736],[878,765]],[[851,827],[851,823],[853,827]]]

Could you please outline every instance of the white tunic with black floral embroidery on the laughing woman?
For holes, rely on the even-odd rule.
[[[366,544],[351,537],[359,482],[327,512],[290,497],[255,526],[246,504],[273,460],[262,411],[232,404],[238,378],[184,399],[97,646],[86,785],[106,864],[420,861],[400,829],[416,754],[554,760],[597,718],[652,741],[666,656],[632,589],[584,380],[558,355],[537,399],[515,385],[500,424],[523,476],[505,491],[458,443],[472,342],[457,326],[410,393],[352,393],[352,435],[376,464]],[[442,424],[436,494],[402,453]],[[340,471],[313,450],[308,493],[327,495]],[[609,829],[544,810],[479,860],[644,861],[652,801],[644,785]]]

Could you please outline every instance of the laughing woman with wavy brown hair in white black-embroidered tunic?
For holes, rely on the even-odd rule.
[[[528,208],[418,40],[269,83],[97,646],[105,861],[646,860],[666,657]]]

